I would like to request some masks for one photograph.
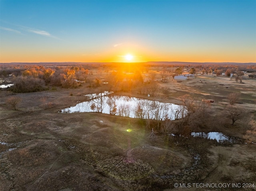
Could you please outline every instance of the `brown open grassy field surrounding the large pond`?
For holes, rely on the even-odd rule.
[[[85,101],[83,95],[109,90],[109,84],[76,89],[49,86],[47,91],[17,93],[18,110],[6,100],[14,96],[0,91],[0,190],[256,190],[256,79],[243,77],[243,83],[216,75],[198,75],[177,82],[152,68],[142,72],[145,79],[156,73],[153,83],[129,91],[114,92],[146,99],[144,90],[165,90],[164,102],[182,104],[189,94],[197,102],[212,99],[210,119],[197,132],[222,132],[235,142],[186,136],[168,136],[151,128],[146,120],[102,113],[58,113]],[[108,82],[110,72],[91,70]],[[222,85],[223,84],[223,85]],[[153,87],[153,88],[154,88]],[[239,106],[247,116],[231,125],[224,117],[230,93],[240,93]],[[153,123],[154,124],[154,123]],[[244,188],[174,188],[174,183],[252,183]]]

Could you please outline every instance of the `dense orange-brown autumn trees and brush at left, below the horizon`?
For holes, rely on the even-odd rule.
[[[12,74],[13,92],[28,93],[45,90],[46,85],[76,88],[86,81],[89,70],[82,66],[24,66],[1,71],[1,75],[8,74]]]

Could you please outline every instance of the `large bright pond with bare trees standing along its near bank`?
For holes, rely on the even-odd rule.
[[[156,100],[113,95],[112,92],[85,95],[88,101],[81,102],[60,113],[101,112],[116,116],[153,120],[174,120],[186,114],[186,107]]]

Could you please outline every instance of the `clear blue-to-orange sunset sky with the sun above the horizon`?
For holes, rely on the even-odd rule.
[[[0,63],[256,62],[255,0],[0,0]]]

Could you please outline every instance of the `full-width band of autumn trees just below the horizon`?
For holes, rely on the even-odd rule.
[[[111,75],[109,71],[111,69],[116,69]],[[156,73],[150,72],[150,69],[154,68],[154,71],[160,73],[162,81],[165,82],[170,75],[180,75],[183,69],[191,74],[211,74],[213,71],[216,75],[221,75],[226,73],[227,76],[235,74],[236,82],[242,83],[242,73],[241,71],[247,71],[250,73],[256,73],[256,66],[248,64],[221,64],[221,63],[189,63],[188,65],[184,63],[140,63],[138,67],[137,63],[83,63],[83,65],[59,65],[59,66],[42,66],[42,65],[1,65],[0,66],[0,76],[6,77],[8,74],[14,76],[14,86],[13,90],[15,92],[29,92],[29,91],[40,91],[43,90],[45,85],[61,86],[65,88],[76,88],[81,82],[88,81],[88,75],[92,74],[92,69],[96,69],[100,75],[102,71],[106,72],[109,76],[108,82],[110,87],[118,91],[129,91],[131,88],[139,87],[144,83],[141,73],[146,71],[149,73],[149,80],[153,82],[156,80]],[[125,72],[124,72],[125,71]],[[130,73],[130,74],[127,74]],[[133,74],[131,74],[133,73]],[[24,78],[21,78],[24,77]],[[16,77],[16,78],[15,78]],[[32,79],[35,80],[31,83]],[[26,88],[21,89],[19,81],[26,83]],[[21,82],[20,82],[21,83]],[[97,87],[100,85],[100,79],[95,79],[90,82],[91,87]],[[17,86],[16,86],[17,85]],[[17,87],[17,88],[16,88]],[[30,90],[29,90],[30,89]]]

